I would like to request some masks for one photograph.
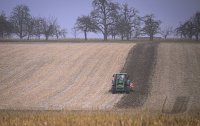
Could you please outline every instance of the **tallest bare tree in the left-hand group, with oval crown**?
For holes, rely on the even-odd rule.
[[[12,11],[10,20],[14,27],[14,32],[20,39],[27,36],[27,27],[30,18],[30,10],[26,5],[17,5]]]

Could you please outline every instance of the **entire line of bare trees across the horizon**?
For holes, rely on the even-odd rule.
[[[171,34],[184,39],[199,40],[200,36],[200,12],[196,12],[191,19],[173,29],[171,26],[160,28],[161,21],[155,19],[153,14],[141,17],[138,10],[129,7],[128,4],[119,4],[112,0],[93,0],[93,10],[88,15],[77,18],[73,27],[74,37],[77,31],[84,33],[102,33],[104,40],[112,39],[132,40],[141,36],[149,36],[154,39],[156,34],[163,38]],[[26,5],[17,5],[13,8],[11,16],[5,13],[0,15],[0,37],[12,38],[18,36],[20,39],[45,37],[65,38],[66,29],[62,29],[56,18],[33,17]]]

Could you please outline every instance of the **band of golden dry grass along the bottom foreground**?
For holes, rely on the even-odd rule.
[[[200,126],[200,115],[94,111],[1,111],[1,126]]]

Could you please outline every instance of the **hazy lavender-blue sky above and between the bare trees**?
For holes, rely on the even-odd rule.
[[[139,11],[140,16],[154,14],[162,21],[161,28],[173,26],[189,19],[200,11],[200,0],[112,0],[120,4],[127,3]],[[73,37],[73,28],[78,16],[89,15],[92,10],[92,0],[0,0],[0,11],[10,16],[16,5],[25,4],[30,8],[32,16],[55,17],[62,28],[66,28],[67,37]],[[89,34],[88,37],[94,36]],[[78,33],[78,37],[83,37]],[[95,35],[101,38],[101,33]]]

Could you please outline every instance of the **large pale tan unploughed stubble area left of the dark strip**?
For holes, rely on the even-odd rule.
[[[0,109],[104,109],[134,44],[1,44]],[[117,53],[116,53],[117,52]]]

